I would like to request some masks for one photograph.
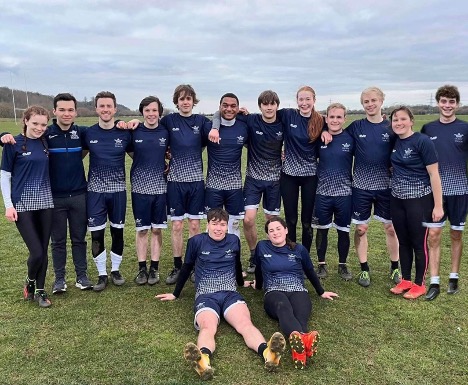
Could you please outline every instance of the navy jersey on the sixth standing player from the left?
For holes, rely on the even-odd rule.
[[[211,130],[204,132],[205,138]],[[208,172],[206,187],[217,190],[242,188],[241,160],[242,149],[248,140],[247,125],[236,120],[232,126],[221,125],[219,144],[208,141]]]

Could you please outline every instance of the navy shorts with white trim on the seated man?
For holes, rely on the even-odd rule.
[[[218,324],[221,314],[224,316],[229,309],[239,303],[245,304],[244,298],[237,291],[217,291],[216,293],[200,294],[195,300],[193,311],[195,318],[193,326],[199,330],[197,316],[203,311],[212,311],[218,316]]]

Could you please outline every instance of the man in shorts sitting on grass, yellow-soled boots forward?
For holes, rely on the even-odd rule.
[[[248,287],[251,281],[242,277],[240,240],[227,234],[229,214],[221,209],[207,213],[207,233],[188,240],[184,263],[174,292],[156,298],[172,301],[180,296],[190,272],[195,268],[195,320],[199,330],[197,344],[185,345],[184,357],[202,380],[213,378],[212,354],[216,348],[215,335],[221,316],[242,335],[246,345],[265,361],[265,368],[274,371],[279,365],[286,341],[281,333],[274,333],[267,343],[252,324],[250,312],[236,284]]]

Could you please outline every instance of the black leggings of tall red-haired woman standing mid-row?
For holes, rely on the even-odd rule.
[[[283,199],[284,217],[288,226],[288,236],[296,242],[299,189],[301,191],[302,244],[310,252],[312,246],[312,214],[314,211],[317,176],[291,176],[281,173],[280,190]]]

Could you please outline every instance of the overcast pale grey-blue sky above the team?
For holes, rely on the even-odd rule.
[[[294,107],[310,85],[318,109],[359,108],[368,86],[388,106],[429,104],[450,83],[468,104],[464,0],[0,0],[0,23],[0,86],[48,95],[173,108],[189,83],[208,113],[226,92],[256,111],[263,90]]]

